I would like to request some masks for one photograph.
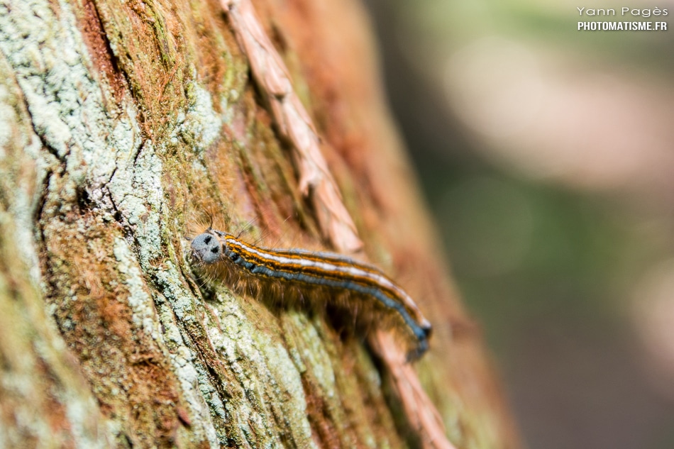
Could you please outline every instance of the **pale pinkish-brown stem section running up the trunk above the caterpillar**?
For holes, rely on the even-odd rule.
[[[231,26],[250,63],[255,81],[269,101],[281,135],[292,144],[299,189],[311,199],[321,230],[343,253],[363,247],[353,219],[321,154],[318,133],[292,88],[283,60],[265,33],[250,0],[221,0]]]

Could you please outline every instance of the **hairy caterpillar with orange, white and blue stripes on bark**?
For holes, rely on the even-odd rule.
[[[280,296],[283,301],[346,296],[358,310],[356,321],[406,331],[414,341],[407,360],[429,348],[431,323],[402,288],[374,267],[333,253],[260,248],[211,228],[197,235],[191,248],[199,273],[221,279],[237,293]]]

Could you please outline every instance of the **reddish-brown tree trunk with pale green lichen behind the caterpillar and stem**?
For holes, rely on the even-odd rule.
[[[518,447],[382,106],[360,6],[255,9],[360,255],[431,317],[415,368],[449,440]],[[209,214],[226,231],[252,222],[265,245],[340,249],[233,20],[214,0],[0,0],[0,447],[436,444],[358,333],[194,280],[185,237]]]

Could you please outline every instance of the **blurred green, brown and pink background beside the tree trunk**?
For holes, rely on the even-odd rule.
[[[577,30],[674,3],[366,5],[526,445],[674,448],[674,31]]]

